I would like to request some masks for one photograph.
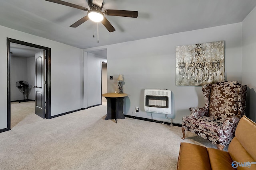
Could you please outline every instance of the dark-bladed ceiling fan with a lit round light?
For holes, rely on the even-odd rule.
[[[104,16],[122,16],[122,17],[131,17],[131,18],[137,18],[138,17],[138,11],[127,11],[127,10],[104,10],[104,12],[102,12],[102,8],[103,8],[103,0],[88,0],[88,5],[90,7],[90,10],[88,10],[88,8],[85,8],[83,6],[79,6],[76,4],[71,4],[69,2],[65,2],[62,0],[46,0],[49,2],[54,2],[57,4],[61,4],[61,5],[65,5],[65,6],[70,6],[72,8],[77,8],[79,10],[83,10],[83,11],[88,11],[87,12],[87,16],[81,18],[80,20],[76,21],[75,23],[73,23],[72,25],[70,25],[70,27],[78,27],[79,25],[81,25],[82,23],[84,23],[87,20],[92,20],[94,22],[101,22],[106,29],[108,29],[109,32],[113,32],[116,29],[111,25],[111,23],[106,19],[106,17]]]

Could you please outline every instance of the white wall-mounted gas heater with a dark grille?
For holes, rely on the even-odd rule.
[[[171,93],[171,90],[145,89],[145,111],[153,113],[172,114]]]

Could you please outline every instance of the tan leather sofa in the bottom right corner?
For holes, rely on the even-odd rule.
[[[240,119],[228,152],[191,143],[180,145],[177,170],[234,169],[256,170],[256,123],[246,116]]]

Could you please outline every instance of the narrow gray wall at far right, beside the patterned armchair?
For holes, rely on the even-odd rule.
[[[248,85],[246,115],[256,121],[256,8],[242,22],[242,78]]]

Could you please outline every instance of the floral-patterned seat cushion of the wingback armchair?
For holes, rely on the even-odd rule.
[[[221,136],[223,135],[222,121],[214,120],[213,117],[202,116],[197,119],[192,117],[183,117],[182,122],[189,123],[190,126],[211,133],[212,135]]]

